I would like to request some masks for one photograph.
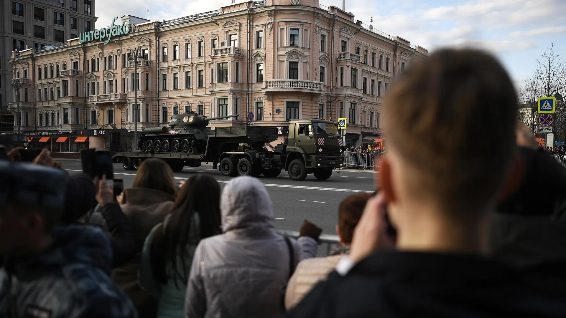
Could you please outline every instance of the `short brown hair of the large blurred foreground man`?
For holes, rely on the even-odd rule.
[[[517,97],[494,57],[441,49],[414,62],[389,91],[383,113],[388,147],[409,169],[415,196],[470,212],[495,201],[514,156]]]

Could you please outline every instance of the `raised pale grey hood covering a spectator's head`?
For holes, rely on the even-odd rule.
[[[256,178],[242,176],[231,179],[222,190],[220,210],[224,232],[275,228],[271,197]]]

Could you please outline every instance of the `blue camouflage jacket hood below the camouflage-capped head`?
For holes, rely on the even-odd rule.
[[[49,250],[33,257],[14,260],[18,276],[38,270],[87,264],[110,274],[113,264],[108,235],[96,226],[68,225],[53,229],[53,244]]]

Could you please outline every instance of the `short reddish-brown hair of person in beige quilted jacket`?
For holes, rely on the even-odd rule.
[[[352,242],[355,226],[358,225],[359,218],[362,217],[367,200],[372,196],[373,194],[369,193],[354,194],[340,202],[340,206],[338,206],[338,227],[340,227],[342,242],[346,244]]]

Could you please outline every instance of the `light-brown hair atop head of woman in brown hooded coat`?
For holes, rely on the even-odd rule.
[[[150,158],[141,162],[133,187],[157,190],[177,196],[173,170],[160,159]]]

